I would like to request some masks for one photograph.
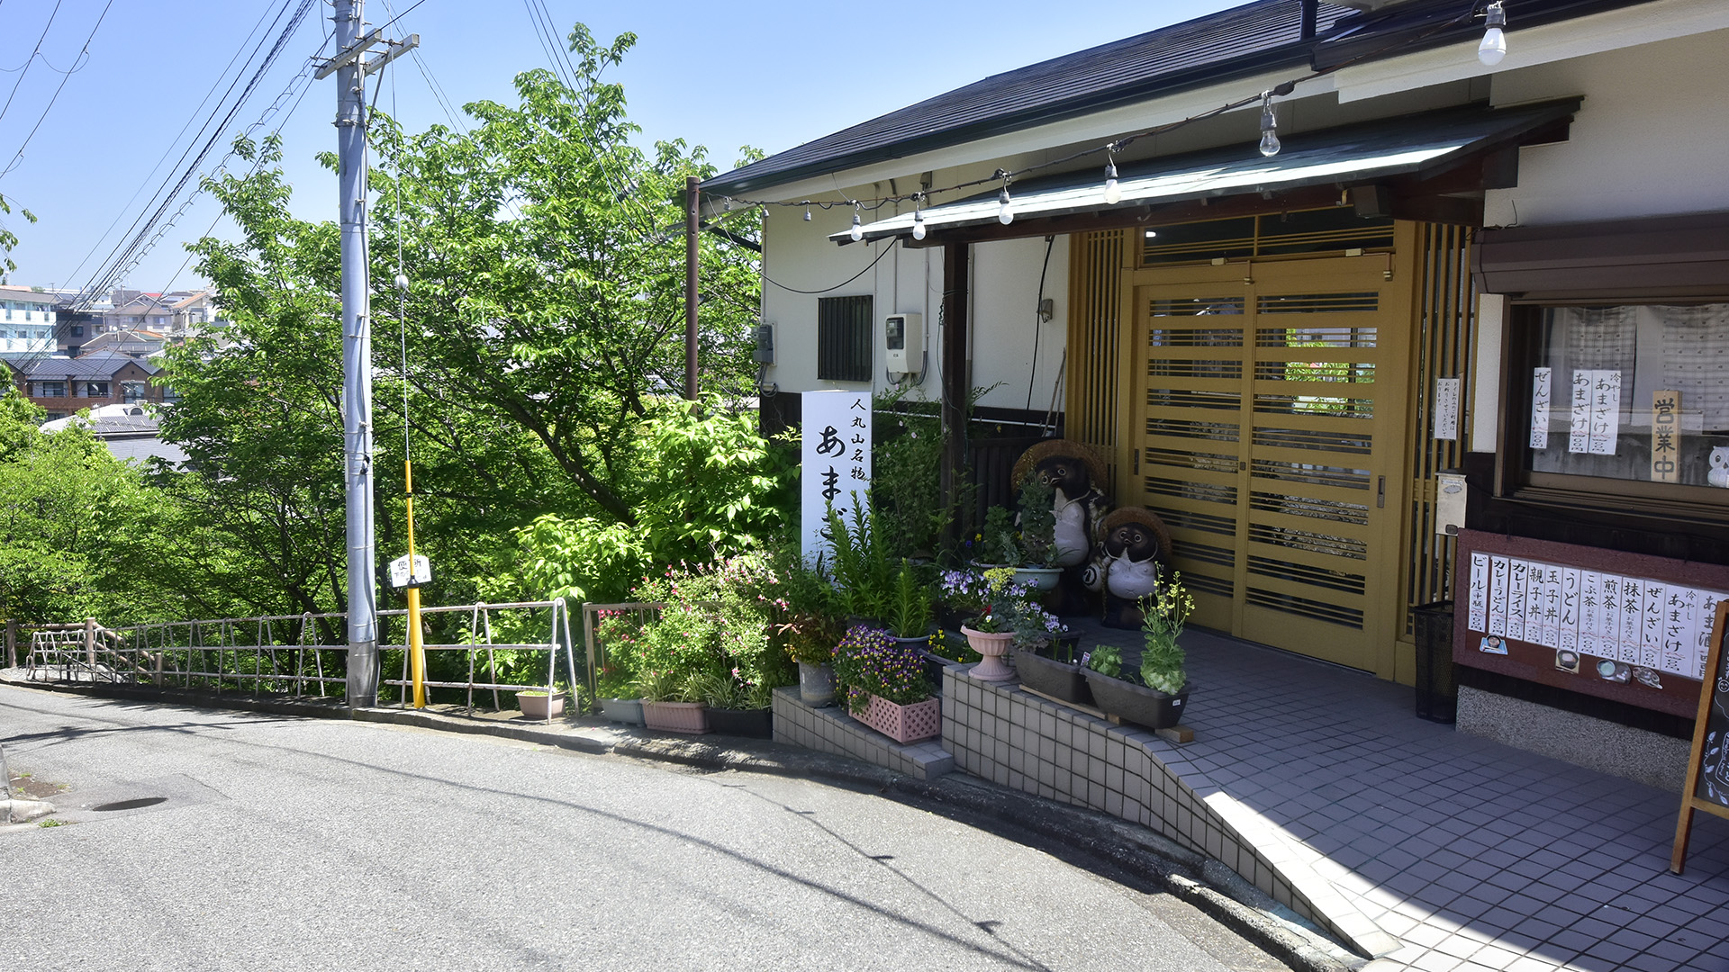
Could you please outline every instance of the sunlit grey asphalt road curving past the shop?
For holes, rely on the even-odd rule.
[[[69,787],[0,834],[0,969],[1283,969],[828,783],[12,687],[0,742]]]

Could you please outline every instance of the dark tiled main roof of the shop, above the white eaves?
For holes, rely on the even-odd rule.
[[[1511,24],[1534,26],[1649,0],[1520,0]],[[1478,3],[1480,9],[1480,3]],[[707,180],[709,194],[764,187],[882,163],[1228,81],[1278,66],[1375,61],[1482,33],[1461,0],[1407,0],[1359,14],[1319,3],[1316,36],[1302,36],[1302,0],[1257,0],[1105,43],[892,111]],[[1456,21],[1458,22],[1452,22]],[[1245,92],[1245,95],[1254,92]]]

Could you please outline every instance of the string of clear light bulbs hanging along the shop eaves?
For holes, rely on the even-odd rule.
[[[1069,163],[1074,163],[1074,161],[1079,161],[1079,159],[1086,159],[1086,157],[1091,157],[1091,156],[1098,156],[1098,154],[1103,152],[1105,154],[1105,192],[1103,192],[1105,204],[1107,206],[1115,206],[1117,202],[1122,201],[1122,189],[1120,189],[1120,185],[1117,182],[1117,159],[1115,159],[1115,156],[1117,156],[1117,152],[1122,152],[1124,149],[1127,149],[1134,142],[1138,142],[1141,138],[1153,138],[1153,137],[1164,135],[1167,131],[1176,131],[1177,128],[1184,128],[1188,125],[1195,125],[1195,123],[1205,121],[1209,118],[1217,118],[1221,114],[1226,114],[1226,112],[1231,112],[1231,111],[1236,111],[1236,109],[1241,109],[1241,107],[1248,107],[1248,106],[1252,106],[1255,102],[1260,102],[1260,144],[1259,144],[1259,149],[1260,149],[1262,156],[1273,157],[1281,149],[1279,137],[1278,137],[1278,116],[1274,112],[1273,99],[1276,99],[1276,97],[1279,97],[1279,99],[1290,97],[1292,92],[1295,92],[1297,85],[1300,85],[1304,81],[1312,81],[1316,78],[1324,78],[1324,76],[1333,74],[1337,71],[1342,71],[1345,67],[1361,64],[1361,62],[1369,61],[1369,59],[1381,57],[1383,54],[1388,54],[1392,50],[1399,50],[1399,48],[1404,48],[1404,47],[1418,45],[1418,43],[1421,43],[1421,42],[1435,36],[1440,31],[1451,29],[1451,28],[1454,28],[1454,26],[1458,26],[1461,22],[1473,21],[1473,19],[1478,19],[1478,17],[1483,19],[1483,26],[1487,29],[1483,33],[1482,45],[1477,48],[1477,57],[1478,57],[1478,61],[1482,61],[1483,66],[1494,67],[1496,64],[1501,62],[1503,57],[1506,57],[1506,35],[1504,35],[1504,28],[1508,24],[1508,21],[1506,21],[1506,9],[1503,5],[1503,0],[1494,0],[1487,7],[1483,7],[1482,10],[1478,10],[1477,0],[1473,0],[1471,7],[1466,12],[1459,14],[1456,17],[1451,17],[1447,21],[1442,21],[1439,24],[1433,24],[1428,29],[1425,29],[1425,31],[1421,31],[1421,33],[1418,33],[1418,35],[1414,35],[1414,36],[1411,36],[1407,40],[1388,43],[1385,47],[1380,47],[1380,48],[1359,54],[1357,57],[1352,57],[1352,59],[1343,61],[1340,64],[1333,64],[1333,66],[1323,67],[1319,71],[1311,71],[1311,73],[1307,73],[1307,74],[1304,74],[1300,78],[1292,78],[1288,81],[1281,81],[1279,85],[1274,85],[1273,88],[1267,88],[1264,92],[1259,92],[1259,93],[1254,93],[1254,95],[1248,95],[1248,97],[1243,97],[1243,99],[1236,99],[1236,100],[1222,104],[1219,107],[1203,111],[1203,112],[1198,112],[1198,114],[1191,114],[1188,118],[1181,118],[1181,119],[1176,119],[1176,121],[1169,121],[1165,125],[1155,125],[1152,128],[1143,128],[1139,131],[1134,131],[1134,133],[1129,133],[1129,135],[1122,135],[1119,138],[1105,142],[1103,145],[1096,145],[1096,147],[1089,147],[1089,149],[1081,149],[1077,152],[1070,152],[1070,154],[1067,154],[1063,157],[1058,157],[1058,159],[1046,159],[1043,163],[1036,163],[1036,164],[1024,166],[1024,168],[1018,168],[1018,169],[1001,169],[999,168],[994,173],[991,173],[989,176],[973,178],[973,180],[967,180],[967,182],[958,182],[954,185],[946,185],[946,187],[939,187],[939,189],[918,189],[915,192],[904,192],[904,194],[897,194],[897,195],[877,195],[877,197],[864,197],[864,199],[799,199],[799,201],[747,199],[747,197],[738,197],[738,195],[721,195],[721,199],[726,201],[726,208],[728,209],[731,209],[733,204],[761,208],[764,213],[768,211],[769,206],[804,209],[804,220],[806,221],[811,220],[811,209],[813,208],[835,209],[835,208],[842,208],[842,206],[851,206],[852,208],[852,227],[847,232],[847,237],[851,237],[854,242],[864,239],[864,227],[863,227],[863,221],[861,221],[861,214],[863,213],[866,213],[866,211],[877,211],[877,209],[882,209],[884,206],[897,206],[897,204],[903,204],[903,202],[911,202],[913,204],[913,239],[922,240],[922,239],[925,239],[923,208],[930,202],[932,195],[961,192],[961,190],[977,189],[977,187],[982,187],[982,185],[999,185],[999,189],[998,189],[998,213],[996,213],[996,218],[998,218],[999,223],[1003,223],[1006,227],[1006,225],[1010,225],[1010,223],[1015,221],[1015,199],[1010,194],[1008,187],[1017,178],[1022,178],[1022,176],[1032,175],[1032,173],[1039,173],[1039,171],[1046,171],[1046,169],[1053,169],[1056,166],[1065,166]]]

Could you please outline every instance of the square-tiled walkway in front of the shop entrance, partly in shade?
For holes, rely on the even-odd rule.
[[[1088,628],[1138,647],[1138,631]],[[1729,822],[1696,815],[1668,873],[1679,794],[1463,735],[1409,687],[1191,630],[1195,742],[1171,763],[1224,792],[1425,972],[1729,972]]]

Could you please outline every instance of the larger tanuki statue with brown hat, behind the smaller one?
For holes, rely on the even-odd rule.
[[[1056,524],[1050,560],[1053,567],[1063,569],[1046,605],[1056,614],[1082,614],[1088,597],[1081,574],[1098,541],[1098,524],[1110,508],[1110,500],[1100,488],[1105,483],[1105,462],[1081,443],[1046,439],[1015,460],[1015,486],[1020,488],[1029,477],[1051,486]]]

